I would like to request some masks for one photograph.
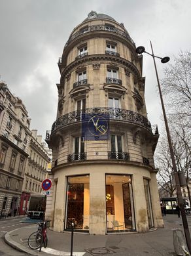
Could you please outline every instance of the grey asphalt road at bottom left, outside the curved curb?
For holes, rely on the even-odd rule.
[[[24,256],[27,253],[22,253],[21,251],[16,251],[4,241],[4,236],[6,232],[14,230],[16,228],[21,228],[22,226],[29,226],[31,223],[20,223],[22,218],[16,219],[1,219],[0,220],[0,256]]]

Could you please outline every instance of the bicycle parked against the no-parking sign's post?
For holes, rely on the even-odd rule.
[[[49,221],[40,221],[37,226],[38,230],[30,234],[28,238],[28,245],[31,249],[39,249],[44,246],[46,248],[48,243],[47,237],[47,223]]]

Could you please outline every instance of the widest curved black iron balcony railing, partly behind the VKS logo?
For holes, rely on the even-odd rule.
[[[121,108],[101,107],[101,108],[86,108],[86,110],[76,110],[59,117],[56,121],[54,121],[52,125],[52,132],[60,128],[63,128],[67,125],[70,125],[72,123],[82,121],[82,114],[88,114],[92,116],[95,116],[95,115],[101,116],[104,114],[109,116],[110,120],[134,123],[136,125],[141,125],[149,129],[150,131],[152,131],[151,125],[148,119],[137,112],[133,112],[131,110],[124,110]],[[50,133],[47,136],[49,135]]]

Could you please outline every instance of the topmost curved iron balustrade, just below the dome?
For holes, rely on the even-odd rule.
[[[100,24],[100,25],[89,26],[88,28],[86,28],[86,30],[80,30],[76,33],[73,33],[73,35],[71,35],[71,37],[69,37],[67,43],[65,44],[65,47],[67,47],[67,45],[69,45],[69,43],[71,41],[73,41],[73,39],[77,38],[78,36],[80,36],[84,33],[95,32],[95,31],[109,31],[109,32],[117,33],[118,35],[122,35],[122,36],[126,37],[126,39],[128,39],[128,41],[130,41],[130,43],[132,43],[135,46],[133,39],[131,39],[130,35],[128,35],[128,33],[124,32],[124,30],[120,30],[119,28],[115,28],[114,26],[107,26],[107,25]]]

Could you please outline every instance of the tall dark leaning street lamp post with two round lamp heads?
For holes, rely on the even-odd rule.
[[[170,132],[169,132],[169,125],[167,123],[167,116],[165,114],[164,101],[163,101],[163,98],[162,98],[162,91],[161,91],[161,88],[160,88],[160,81],[159,81],[159,78],[158,78],[158,72],[157,72],[156,62],[155,62],[155,58],[160,58],[162,63],[168,62],[170,60],[170,58],[169,57],[161,58],[161,57],[155,56],[154,52],[153,52],[153,49],[152,49],[151,41],[150,41],[150,47],[151,47],[151,50],[152,50],[152,54],[147,53],[145,51],[145,47],[143,47],[143,46],[137,47],[136,53],[138,53],[138,54],[147,53],[150,56],[152,56],[153,61],[154,61],[154,68],[155,68],[155,72],[156,72],[158,90],[159,90],[160,100],[161,100],[161,104],[162,104],[162,112],[163,112],[163,116],[164,116],[165,129],[166,129],[166,133],[167,133],[167,140],[168,140],[168,144],[169,144],[169,150],[170,150],[170,154],[171,154],[171,161],[172,161],[172,165],[173,165],[173,173],[174,173],[174,176],[175,176],[175,182],[176,182],[176,188],[177,188],[177,198],[178,198],[178,203],[181,207],[182,224],[183,224],[183,227],[184,227],[184,234],[185,234],[185,237],[186,237],[186,244],[188,245],[188,249],[191,253],[190,232],[189,232],[189,229],[188,229],[188,222],[187,222],[187,219],[186,219],[186,212],[185,212],[185,209],[184,209],[184,200],[182,198],[181,184],[180,184],[180,181],[179,181],[179,173],[177,171],[177,165],[176,165],[176,162],[175,162],[175,155],[174,155],[174,152],[173,152],[173,146],[172,146],[171,136],[170,136]]]

